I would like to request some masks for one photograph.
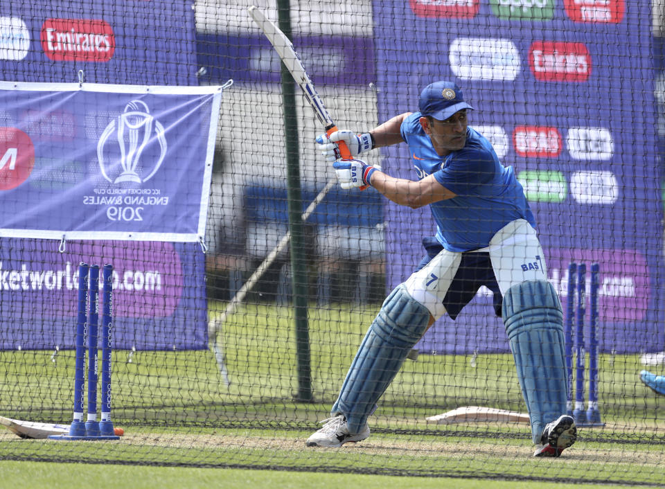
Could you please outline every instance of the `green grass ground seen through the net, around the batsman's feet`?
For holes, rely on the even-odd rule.
[[[211,316],[223,307],[213,307]],[[0,459],[364,472],[383,478],[665,481],[665,398],[641,385],[636,355],[601,355],[601,413],[607,426],[580,429],[580,441],[561,459],[533,459],[523,425],[426,423],[427,416],[462,405],[523,411],[513,359],[504,354],[473,361],[464,355],[421,355],[407,361],[382,398],[367,441],[339,450],[305,450],[303,440],[326,417],[375,312],[376,307],[351,305],[310,308],[313,402],[297,400],[290,310],[247,305],[224,325],[231,385],[224,384],[208,350],[116,351],[114,423],[127,432],[122,441],[25,441],[2,434]],[[0,353],[0,415],[69,423],[73,352],[60,352],[55,362],[51,354]]]

